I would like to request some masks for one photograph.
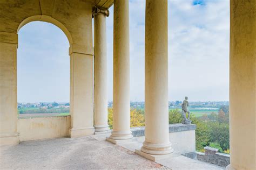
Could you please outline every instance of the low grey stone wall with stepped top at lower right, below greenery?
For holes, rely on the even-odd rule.
[[[197,152],[197,159],[210,164],[226,167],[230,164],[230,155],[219,153],[217,148],[206,146],[205,153]]]

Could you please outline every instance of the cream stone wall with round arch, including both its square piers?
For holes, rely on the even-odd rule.
[[[70,128],[66,135],[94,133],[92,4],[89,1],[11,1],[0,3],[0,145],[19,143],[17,121],[18,31],[30,22],[57,26],[69,40]],[[8,15],[6,15],[8,14]],[[2,114],[3,113],[3,114]],[[3,121],[4,120],[4,121]]]

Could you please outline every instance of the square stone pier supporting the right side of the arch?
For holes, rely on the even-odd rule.
[[[70,137],[95,132],[93,127],[93,48],[71,44],[70,54]]]

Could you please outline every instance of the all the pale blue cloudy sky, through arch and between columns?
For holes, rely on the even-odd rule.
[[[130,97],[144,101],[145,0],[130,0]],[[169,101],[228,101],[228,0],[169,0]],[[159,16],[161,17],[161,16]],[[107,25],[108,100],[113,93],[113,6]],[[69,42],[55,25],[18,32],[18,102],[69,102]]]

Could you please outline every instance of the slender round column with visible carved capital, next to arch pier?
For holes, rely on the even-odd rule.
[[[106,17],[109,10],[98,8],[94,17],[94,127],[95,131],[109,130],[107,125],[107,54],[106,54]]]

